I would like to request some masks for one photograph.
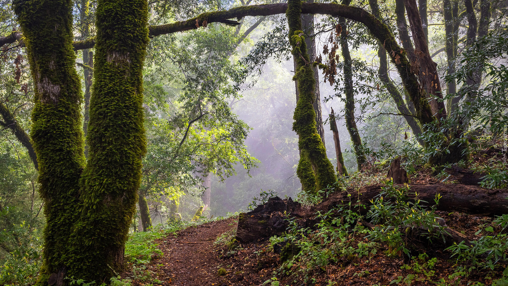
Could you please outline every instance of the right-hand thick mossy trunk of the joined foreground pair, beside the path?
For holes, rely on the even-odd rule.
[[[142,69],[148,43],[145,0],[99,0],[96,12],[87,166],[68,276],[104,281],[124,266],[136,211],[143,127]]]

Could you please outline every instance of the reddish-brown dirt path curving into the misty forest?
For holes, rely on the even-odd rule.
[[[204,224],[196,228],[188,228],[178,233],[175,238],[160,241],[159,248],[164,257],[154,261],[161,265],[166,285],[207,286],[224,283],[217,276],[220,263],[218,255],[213,251],[213,242],[221,234],[236,228],[234,218]]]

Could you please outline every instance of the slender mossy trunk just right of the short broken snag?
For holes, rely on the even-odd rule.
[[[351,0],[343,0],[342,4],[350,5]],[[367,157],[363,152],[362,139],[356,126],[355,121],[355,88],[353,87],[353,64],[351,60],[351,54],[349,50],[349,44],[347,43],[347,25],[344,17],[339,18],[339,24],[342,26],[340,33],[340,49],[342,57],[344,58],[343,73],[344,73],[344,93],[345,93],[345,120],[346,128],[351,136],[351,142],[353,143],[353,150],[356,154],[356,162],[358,164],[358,171],[362,169],[362,166],[367,163]]]

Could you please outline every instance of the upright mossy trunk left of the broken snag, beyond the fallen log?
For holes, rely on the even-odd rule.
[[[301,150],[297,174],[302,182],[302,189],[307,193],[317,193],[335,183],[337,177],[334,168],[328,160],[326,149],[316,129],[314,68],[307,53],[307,45],[302,31],[300,14],[302,12],[299,0],[288,2],[288,17],[290,44],[296,59],[295,80],[298,80],[298,102],[293,119],[293,130],[298,134],[298,146]]]

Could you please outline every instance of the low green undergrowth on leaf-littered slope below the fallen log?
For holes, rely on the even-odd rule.
[[[438,220],[452,214],[408,202],[409,193],[409,187],[388,181],[366,215],[348,203],[317,213],[320,222],[313,229],[288,217],[288,231],[270,238],[268,251],[279,256],[264,284],[508,285],[508,215],[493,221],[468,217],[478,229],[468,233],[471,243],[447,248],[447,230]]]

